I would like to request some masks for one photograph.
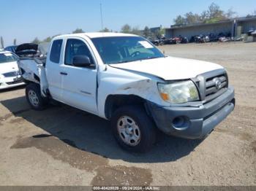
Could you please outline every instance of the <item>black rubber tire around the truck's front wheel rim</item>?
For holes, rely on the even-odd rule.
[[[124,116],[132,118],[140,130],[140,141],[135,146],[125,143],[118,131],[118,122]],[[118,144],[129,152],[148,152],[156,141],[154,122],[148,117],[142,106],[124,106],[117,109],[111,118],[111,128]]]

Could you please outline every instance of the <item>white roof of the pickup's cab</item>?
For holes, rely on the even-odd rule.
[[[99,38],[99,37],[112,37],[112,36],[136,36],[134,34],[122,34],[122,33],[80,33],[80,34],[65,34],[58,37],[72,37],[72,36],[88,36],[89,38]]]

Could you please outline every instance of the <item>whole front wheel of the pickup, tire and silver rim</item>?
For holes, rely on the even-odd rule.
[[[124,106],[114,112],[111,127],[118,144],[131,152],[147,152],[156,139],[154,122],[141,106]]]

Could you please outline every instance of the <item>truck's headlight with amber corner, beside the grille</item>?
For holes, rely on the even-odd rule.
[[[191,81],[158,84],[161,98],[172,104],[183,104],[189,101],[199,101],[197,87]]]

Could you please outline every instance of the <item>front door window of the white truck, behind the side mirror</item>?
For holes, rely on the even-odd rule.
[[[72,59],[75,55],[86,55],[94,63],[91,52],[87,45],[78,39],[68,39],[65,51],[65,64],[72,65]]]

